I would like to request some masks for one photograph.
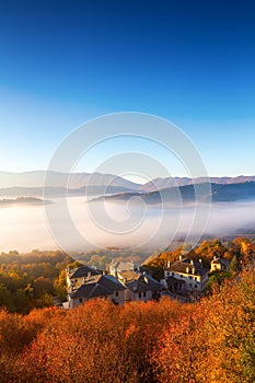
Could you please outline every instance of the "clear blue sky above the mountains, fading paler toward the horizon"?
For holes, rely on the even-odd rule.
[[[210,175],[254,174],[254,68],[253,1],[1,1],[0,170],[47,169],[76,127],[134,111],[182,128]]]

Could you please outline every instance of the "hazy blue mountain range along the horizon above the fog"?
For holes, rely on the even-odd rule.
[[[45,177],[47,175],[47,186]],[[0,196],[20,197],[61,197],[61,196],[100,196],[111,200],[127,200],[142,196],[148,204],[174,201],[178,199],[193,201],[195,193],[193,184],[208,182],[205,178],[166,177],[155,178],[146,184],[137,184],[113,174],[101,173],[59,173],[34,171],[24,173],[0,172]],[[213,201],[255,199],[255,176],[210,177]],[[68,185],[68,187],[67,187]],[[161,190],[161,193],[159,193]],[[163,190],[163,192],[162,192]],[[205,196],[207,198],[208,196]]]

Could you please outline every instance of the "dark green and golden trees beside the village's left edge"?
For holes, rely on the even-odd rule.
[[[73,259],[60,251],[0,254],[0,306],[27,314],[66,295],[65,269]]]

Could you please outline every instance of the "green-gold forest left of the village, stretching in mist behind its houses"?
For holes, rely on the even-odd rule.
[[[51,306],[66,300],[66,268],[81,264],[107,269],[113,258],[140,264],[149,251],[95,248],[71,255],[61,251],[0,254],[0,307],[27,314],[32,309]]]

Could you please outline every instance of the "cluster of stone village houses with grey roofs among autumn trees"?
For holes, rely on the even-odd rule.
[[[176,299],[183,303],[195,302],[205,297],[209,275],[228,271],[230,260],[213,256],[210,269],[201,258],[192,259],[179,255],[173,264],[166,262],[164,278],[154,279],[144,266],[134,262],[112,260],[108,270],[81,266],[67,268],[67,298],[63,309],[74,309],[86,301],[101,298],[116,305],[131,301],[159,301],[161,297]]]

